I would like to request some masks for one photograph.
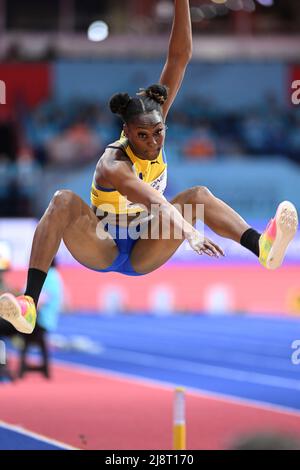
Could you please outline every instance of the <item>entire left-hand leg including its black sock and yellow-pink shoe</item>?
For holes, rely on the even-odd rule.
[[[39,295],[62,240],[79,263],[92,269],[107,268],[118,255],[94,212],[71,191],[56,192],[35,231],[25,295],[0,297],[0,317],[22,333],[34,329]]]

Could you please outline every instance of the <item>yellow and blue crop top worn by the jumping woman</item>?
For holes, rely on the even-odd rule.
[[[108,146],[108,148],[111,147]],[[167,186],[167,162],[164,149],[160,151],[156,160],[142,160],[133,153],[123,134],[112,148],[120,148],[128,156],[138,178],[150,184],[161,194],[164,193]],[[91,188],[91,203],[94,207],[101,206],[103,211],[115,214],[137,214],[143,211],[142,207],[130,202],[117,190],[97,185],[95,179]]]

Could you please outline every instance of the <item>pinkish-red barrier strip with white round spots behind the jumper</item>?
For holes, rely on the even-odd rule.
[[[210,311],[211,313],[300,313],[300,267],[266,271],[260,266],[166,266],[152,274],[129,277],[62,268],[69,310]],[[26,273],[7,273],[22,288]]]

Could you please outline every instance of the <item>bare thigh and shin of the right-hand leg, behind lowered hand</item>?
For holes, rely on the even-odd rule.
[[[190,204],[193,209],[192,223],[196,223],[197,204],[204,205],[204,223],[218,235],[230,238],[238,243],[250,226],[231,207],[216,198],[207,188],[196,186],[177,195],[171,204]],[[182,210],[182,214],[184,214]],[[161,221],[160,221],[161,223]],[[183,242],[176,239],[171,225],[170,238],[140,239],[131,253],[131,264],[138,273],[149,273],[162,266]]]

